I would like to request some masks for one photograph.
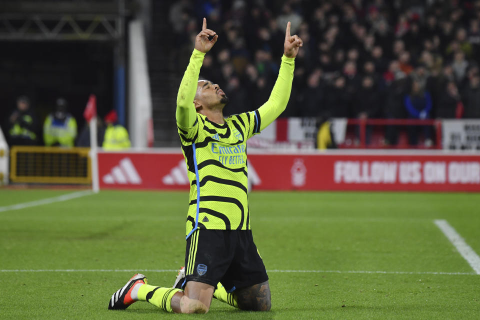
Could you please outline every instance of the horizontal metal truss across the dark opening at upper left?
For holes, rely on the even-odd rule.
[[[0,40],[117,40],[123,36],[120,14],[0,14]]]

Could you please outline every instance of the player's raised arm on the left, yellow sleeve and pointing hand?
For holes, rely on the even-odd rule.
[[[208,40],[208,36],[213,36]],[[206,19],[203,18],[203,25],[200,33],[195,38],[195,48],[190,56],[190,62],[180,82],[180,88],[176,96],[176,122],[179,126],[188,128],[193,125],[196,119],[196,111],[193,106],[195,98],[198,74],[203,62],[205,53],[208,52],[218,39],[215,31],[206,28]]]

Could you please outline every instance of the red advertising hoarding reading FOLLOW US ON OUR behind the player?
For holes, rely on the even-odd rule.
[[[99,152],[100,188],[188,189],[179,151]],[[257,190],[480,191],[480,154],[325,152],[248,154]]]

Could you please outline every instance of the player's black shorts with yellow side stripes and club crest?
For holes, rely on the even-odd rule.
[[[185,281],[221,282],[227,292],[268,280],[251,230],[196,229],[186,240]]]

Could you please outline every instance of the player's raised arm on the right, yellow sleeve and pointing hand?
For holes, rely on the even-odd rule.
[[[290,22],[286,24],[285,41],[283,42],[283,56],[281,57],[280,70],[275,85],[271,90],[268,100],[258,108],[260,114],[260,131],[273,122],[286,107],[290,98],[291,81],[295,56],[298,49],[303,45],[298,35],[290,35]]]

